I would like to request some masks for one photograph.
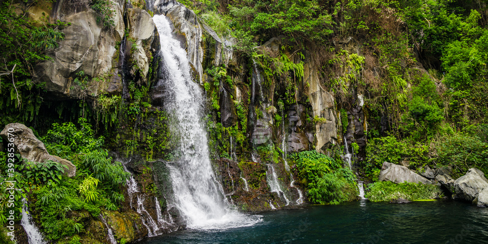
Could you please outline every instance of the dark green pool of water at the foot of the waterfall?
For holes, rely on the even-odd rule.
[[[488,209],[450,201],[352,202],[260,215],[263,221],[253,226],[177,231],[139,244],[488,243]]]

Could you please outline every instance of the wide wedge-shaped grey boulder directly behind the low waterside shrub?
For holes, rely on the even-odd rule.
[[[388,162],[383,163],[378,179],[380,181],[390,181],[394,183],[410,182],[432,184],[432,182],[409,170],[407,167]]]

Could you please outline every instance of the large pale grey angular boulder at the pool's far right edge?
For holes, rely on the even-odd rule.
[[[466,175],[454,181],[453,199],[472,202],[485,188],[488,188],[485,174],[477,168],[470,168]]]

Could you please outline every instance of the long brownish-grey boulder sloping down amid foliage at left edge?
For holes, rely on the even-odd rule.
[[[64,171],[64,173],[68,177],[75,176],[76,166],[68,160],[61,159],[58,156],[49,155],[46,147],[44,146],[44,143],[37,139],[31,128],[21,123],[10,123],[5,126],[5,128],[0,133],[0,136],[6,141],[8,141],[8,139],[10,138],[13,138],[15,148],[20,153],[23,159],[39,163],[44,163],[47,160],[61,163],[68,168]]]

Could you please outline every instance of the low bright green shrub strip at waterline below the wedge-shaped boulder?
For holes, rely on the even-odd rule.
[[[371,202],[385,202],[399,198],[428,200],[442,197],[442,191],[434,184],[375,182],[367,185],[365,197]]]

